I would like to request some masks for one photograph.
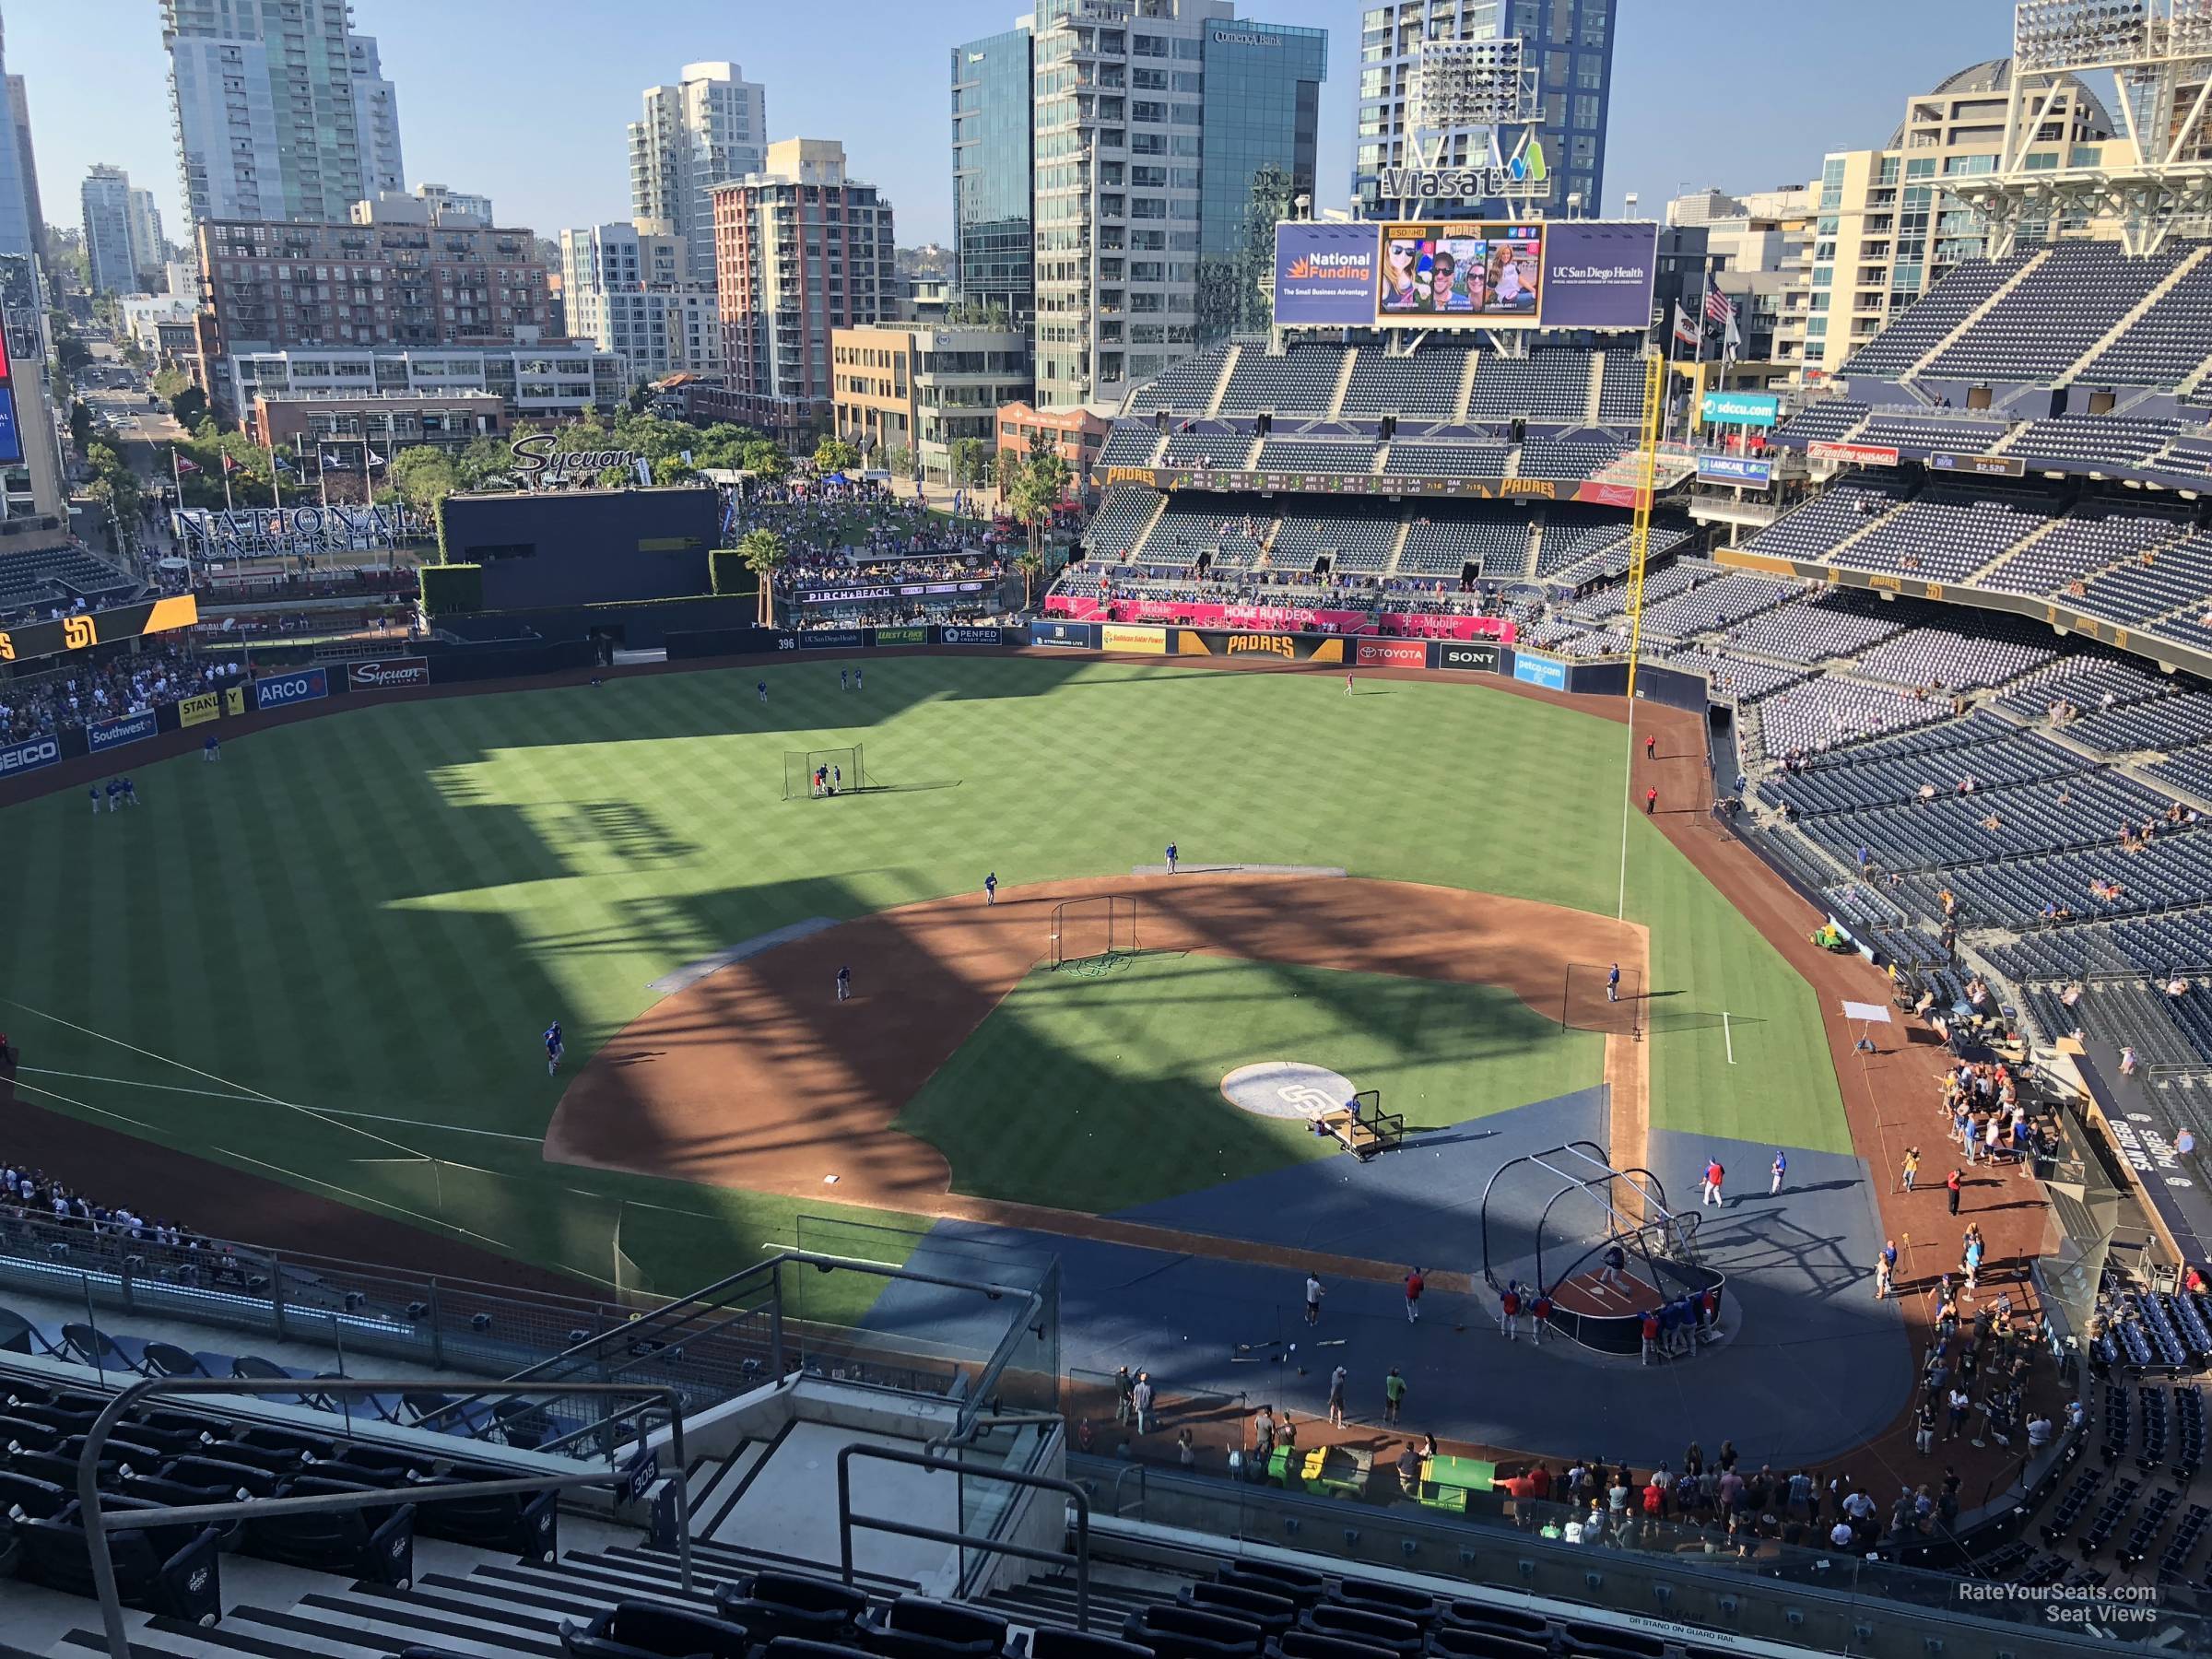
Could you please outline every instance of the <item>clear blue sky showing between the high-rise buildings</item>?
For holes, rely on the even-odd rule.
[[[730,58],[768,84],[770,137],[836,137],[898,208],[900,243],[951,232],[947,49],[1006,29],[1020,0],[356,0],[398,84],[407,184],[493,197],[540,234],[626,219],[624,124],[639,91]],[[1329,29],[1323,206],[1349,190],[1360,0],[1241,0]],[[155,190],[175,239],[177,159],[155,0],[0,0],[29,77],[46,217],[113,161]],[[830,27],[830,35],[823,27]],[[1880,144],[1905,100],[2011,49],[2008,0],[1621,0],[1606,210],[1655,215],[1677,186],[1803,184],[1832,148]]]

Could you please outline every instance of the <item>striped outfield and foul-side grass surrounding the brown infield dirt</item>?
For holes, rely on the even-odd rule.
[[[781,799],[785,750],[854,741],[894,787]],[[790,1237],[799,1206],[544,1166],[549,1020],[575,1064],[648,980],[737,940],[987,869],[1121,872],[1170,838],[1613,914],[1624,745],[1478,686],[1011,657],[874,659],[863,695],[792,661],[345,710],[135,768],[137,812],[0,812],[0,1022],[49,1104],[599,1279],[588,1217],[619,1210],[668,1287]],[[1655,1121],[1847,1150],[1809,987],[1641,814],[1628,914],[1679,993]],[[482,1192],[440,1210],[422,1155]]]

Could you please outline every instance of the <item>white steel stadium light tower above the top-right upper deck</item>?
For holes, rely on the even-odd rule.
[[[2119,135],[2077,164],[2046,122],[2068,80],[2090,77],[2117,91]],[[1993,257],[2013,252],[2026,226],[2093,219],[2112,221],[2128,252],[2157,252],[2174,232],[2212,228],[2208,100],[2212,0],[2020,0],[1997,166],[1947,179],[1944,192],[1982,215]]]

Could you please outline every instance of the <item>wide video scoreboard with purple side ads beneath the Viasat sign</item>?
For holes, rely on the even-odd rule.
[[[1588,219],[1283,221],[1281,327],[1644,330],[1659,226]]]

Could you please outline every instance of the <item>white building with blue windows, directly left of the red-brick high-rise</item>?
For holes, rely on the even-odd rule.
[[[684,276],[684,243],[655,219],[560,232],[568,332],[630,365],[630,385],[670,374],[721,374],[721,312],[712,283]]]

